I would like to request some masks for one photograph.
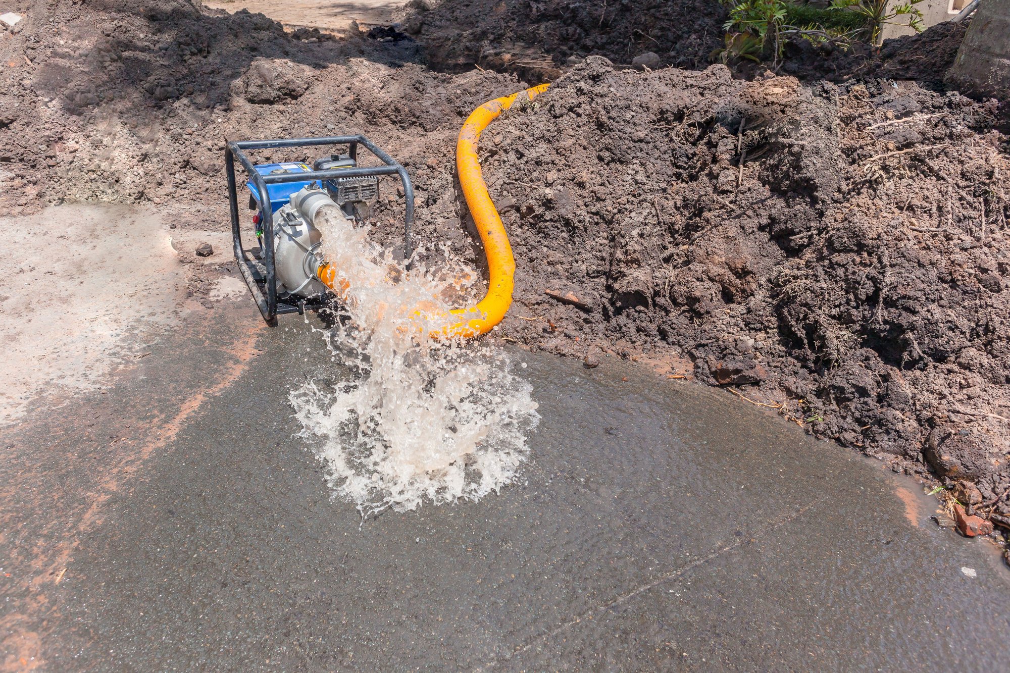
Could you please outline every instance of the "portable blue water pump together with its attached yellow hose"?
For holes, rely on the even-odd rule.
[[[428,331],[434,340],[475,339],[495,328],[512,304],[515,287],[515,258],[505,225],[495,208],[488,186],[481,175],[477,142],[492,120],[512,107],[517,100],[532,101],[548,84],[530,87],[509,96],[484,103],[467,117],[456,143],[456,170],[460,188],[488,263],[488,290],[473,306],[453,308],[444,317],[446,323]],[[254,166],[243,150],[346,146],[347,154],[330,155],[315,162],[310,170],[305,164],[264,164]],[[365,168],[358,165],[358,148],[364,147],[384,166]],[[226,142],[225,170],[228,199],[231,205],[231,235],[235,259],[257,305],[269,324],[277,324],[278,313],[304,312],[322,304],[321,289],[329,288],[345,298],[352,279],[340,275],[319,259],[321,234],[315,228],[316,212],[325,209],[325,217],[360,219],[367,216],[371,200],[379,195],[378,178],[400,177],[406,199],[404,212],[404,260],[410,259],[410,229],[414,223],[414,190],[406,169],[393,161],[364,135],[340,135],[290,140],[241,140]],[[249,176],[249,205],[257,214],[254,223],[260,241],[259,262],[242,248],[238,221],[238,196],[235,192],[235,160]],[[276,226],[275,226],[276,223]],[[343,223],[343,222],[341,222]],[[415,315],[421,315],[417,310]]]

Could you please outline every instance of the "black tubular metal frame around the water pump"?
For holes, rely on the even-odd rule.
[[[347,154],[357,163],[358,146],[365,147],[385,166],[375,166],[371,168],[344,168],[329,171],[309,171],[307,173],[289,173],[283,175],[260,175],[254,168],[252,163],[244,155],[242,150],[274,150],[277,148],[308,148],[331,145],[346,145]],[[260,245],[263,251],[263,266],[266,268],[266,275],[263,276],[256,262],[254,262],[242,249],[241,222],[238,219],[238,194],[235,186],[235,159],[242,169],[249,176],[252,184],[256,185],[260,193],[260,209],[263,213],[263,236]],[[336,178],[361,178],[366,176],[398,175],[403,184],[403,195],[406,200],[406,213],[404,217],[404,259],[410,258],[411,241],[410,232],[414,224],[414,188],[410,184],[410,176],[407,169],[393,161],[393,158],[382,151],[372,140],[364,135],[333,135],[327,137],[300,137],[283,140],[228,140],[224,146],[224,170],[228,178],[228,205],[231,210],[231,242],[234,249],[235,260],[238,262],[238,270],[245,280],[252,298],[256,299],[260,312],[270,325],[277,324],[277,316],[281,313],[299,312],[303,313],[306,302],[299,300],[292,304],[282,298],[282,304],[278,305],[277,296],[277,275],[274,268],[274,209],[270,206],[270,193],[267,185],[279,185],[288,182],[307,182],[312,180],[320,181],[333,180]]]

